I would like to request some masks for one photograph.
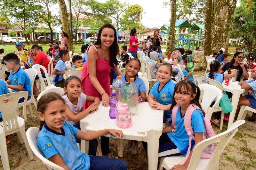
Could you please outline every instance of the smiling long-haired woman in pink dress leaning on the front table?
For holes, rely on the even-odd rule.
[[[110,96],[110,69],[121,75],[117,67],[116,55],[119,46],[116,38],[116,29],[111,24],[104,24],[99,30],[95,44],[87,48],[88,57],[82,69],[83,93],[88,96],[99,97],[102,105],[108,107]],[[91,105],[86,102],[83,110]],[[101,137],[100,145],[102,156],[108,156],[109,138]]]

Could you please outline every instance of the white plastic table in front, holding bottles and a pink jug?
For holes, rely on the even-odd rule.
[[[97,113],[88,114],[80,120],[82,131],[91,132],[102,129],[119,129],[123,131],[123,138],[119,140],[119,146],[123,146],[124,139],[145,141],[148,143],[148,169],[157,169],[159,137],[163,130],[163,111],[153,110],[148,102],[139,102],[138,115],[132,116],[132,126],[121,129],[116,126],[116,119],[109,118],[109,107],[102,106],[100,102]],[[112,134],[106,137],[115,138]],[[89,142],[81,140],[81,151],[88,153]],[[123,157],[123,147],[119,147],[118,156]]]

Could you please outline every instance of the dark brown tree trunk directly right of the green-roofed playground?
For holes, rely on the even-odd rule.
[[[212,0],[205,0],[204,13],[204,53],[201,67],[206,68],[206,55],[212,53]]]

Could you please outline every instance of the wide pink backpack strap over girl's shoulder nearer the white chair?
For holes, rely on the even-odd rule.
[[[189,145],[188,145],[187,155],[186,155],[185,159],[182,162],[179,163],[180,165],[183,165],[186,162],[186,160],[188,159],[188,156],[190,154],[190,149],[191,149],[192,138],[195,140],[195,137],[193,136],[194,131],[192,129],[191,116],[192,116],[192,113],[197,109],[201,110],[198,106],[196,106],[194,104],[190,104],[188,106],[188,109],[186,110],[186,113],[185,113],[184,126],[185,126],[185,129],[186,129],[186,131],[188,133],[188,136],[189,136]]]

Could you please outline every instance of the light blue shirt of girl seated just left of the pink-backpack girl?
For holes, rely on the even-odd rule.
[[[155,96],[157,102],[160,104],[163,104],[163,105],[171,104],[175,85],[176,84],[170,80],[162,87],[162,89],[158,90],[159,81],[157,81],[152,87],[150,94]],[[164,113],[169,117],[171,117],[169,110],[164,110]]]

